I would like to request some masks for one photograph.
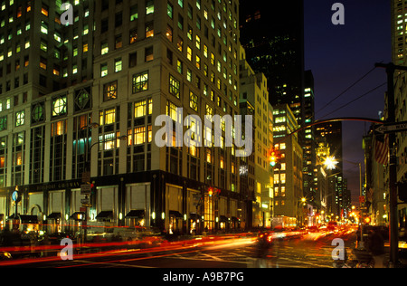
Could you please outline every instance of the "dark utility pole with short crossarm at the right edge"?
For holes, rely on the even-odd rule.
[[[407,67],[395,65],[393,62],[384,64],[376,63],[376,68],[384,68],[387,73],[387,122],[395,122],[395,103],[394,103],[394,72],[407,71]],[[390,262],[393,266],[398,262],[399,250],[399,231],[397,217],[397,157],[395,146],[395,133],[389,134],[389,200],[390,200]]]

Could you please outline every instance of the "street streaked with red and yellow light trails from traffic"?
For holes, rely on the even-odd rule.
[[[105,250],[75,254],[73,260],[61,257],[0,261],[0,267],[29,268],[332,268],[332,241],[341,238],[351,254],[355,229],[270,233],[270,248],[258,249],[256,234],[214,235],[177,243],[161,243],[151,248]],[[290,236],[292,235],[292,237]],[[109,245],[104,246],[106,249]],[[83,250],[83,249],[82,249]],[[81,252],[81,251],[80,251]]]

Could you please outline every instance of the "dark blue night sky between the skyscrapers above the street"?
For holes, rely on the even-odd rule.
[[[334,25],[331,7],[345,5],[345,24]],[[350,91],[329,104],[374,68],[375,62],[392,61],[390,0],[305,0],[305,64],[315,78],[316,119],[364,117],[378,119],[383,110],[386,85],[361,100],[338,109],[386,83],[383,69],[372,71]],[[343,123],[344,160],[364,163],[362,137],[370,123]],[[364,170],[364,164],[363,164]],[[358,203],[359,168],[344,161],[352,201]]]

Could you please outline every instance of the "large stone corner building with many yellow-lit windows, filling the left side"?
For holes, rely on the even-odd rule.
[[[89,0],[72,8],[73,23],[62,25],[58,1],[2,6],[3,221],[14,214],[18,186],[18,213],[62,231],[79,226],[83,212],[89,224],[166,233],[244,226],[240,160],[224,145],[225,123],[218,148],[212,130],[185,120],[239,114],[238,2]],[[158,147],[159,115],[209,147]],[[89,198],[80,191],[86,183]]]

